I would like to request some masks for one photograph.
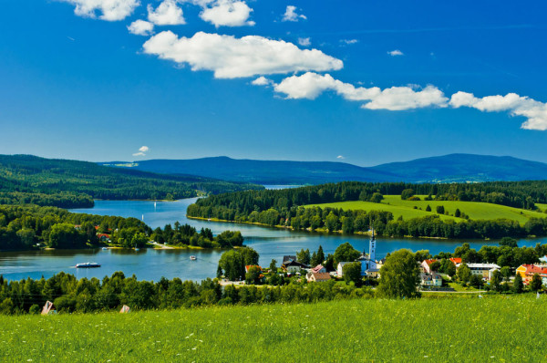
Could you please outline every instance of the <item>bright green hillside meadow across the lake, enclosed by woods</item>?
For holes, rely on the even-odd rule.
[[[405,220],[437,214],[435,211],[438,205],[444,206],[445,211],[449,213],[449,215],[441,215],[441,219],[454,219],[456,221],[462,221],[462,219],[460,218],[455,218],[451,216],[454,214],[456,209],[459,209],[459,211],[462,213],[466,213],[470,216],[471,219],[474,220],[506,218],[518,221],[519,223],[526,223],[526,221],[528,221],[528,219],[531,217],[545,218],[547,216],[547,214],[545,213],[532,212],[519,208],[511,208],[499,204],[490,204],[486,202],[424,201],[424,197],[425,196],[420,195],[420,198],[422,199],[421,201],[402,201],[400,195],[385,195],[384,200],[379,204],[375,202],[356,201],[314,204],[313,206],[316,205],[321,208],[342,208],[345,210],[382,210],[393,213],[395,219],[402,215]],[[431,207],[431,212],[426,212],[426,208],[428,205]],[[547,207],[547,204],[544,205],[545,207]],[[306,207],[309,206],[312,205],[306,205]],[[415,206],[418,207],[418,209],[414,209]],[[421,208],[421,210],[419,208]]]

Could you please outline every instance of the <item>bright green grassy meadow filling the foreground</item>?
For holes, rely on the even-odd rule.
[[[2,316],[4,362],[544,361],[547,298],[444,297]]]

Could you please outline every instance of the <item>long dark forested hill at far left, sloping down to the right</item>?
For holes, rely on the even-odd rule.
[[[262,188],[191,175],[108,168],[95,162],[0,155],[0,204],[89,207],[93,199],[180,199]]]

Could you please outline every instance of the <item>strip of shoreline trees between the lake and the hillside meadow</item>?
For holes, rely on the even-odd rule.
[[[504,236],[525,237],[528,235],[547,235],[547,219],[531,218],[521,225],[517,221],[466,220],[456,222],[441,220],[439,215],[430,215],[403,220],[394,220],[393,213],[386,211],[353,211],[339,208],[320,208],[293,206],[276,209],[271,207],[264,211],[253,210],[248,215],[236,213],[236,210],[225,206],[201,205],[201,202],[224,198],[226,195],[201,199],[188,207],[188,215],[201,218],[218,218],[226,221],[243,223],[262,223],[271,226],[291,227],[294,230],[326,230],[329,232],[366,233],[372,227],[380,235],[441,237],[441,238],[502,238]],[[461,216],[461,213],[459,214]]]

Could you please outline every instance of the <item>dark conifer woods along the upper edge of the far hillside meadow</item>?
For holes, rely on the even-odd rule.
[[[490,202],[516,208],[535,209],[547,202],[547,181],[489,181],[453,184],[410,184],[404,182],[343,181],[283,190],[223,193],[191,205],[191,216],[237,220],[253,212],[274,209],[279,213],[293,207],[326,202],[371,201],[375,193],[401,195],[405,190],[440,201]]]

